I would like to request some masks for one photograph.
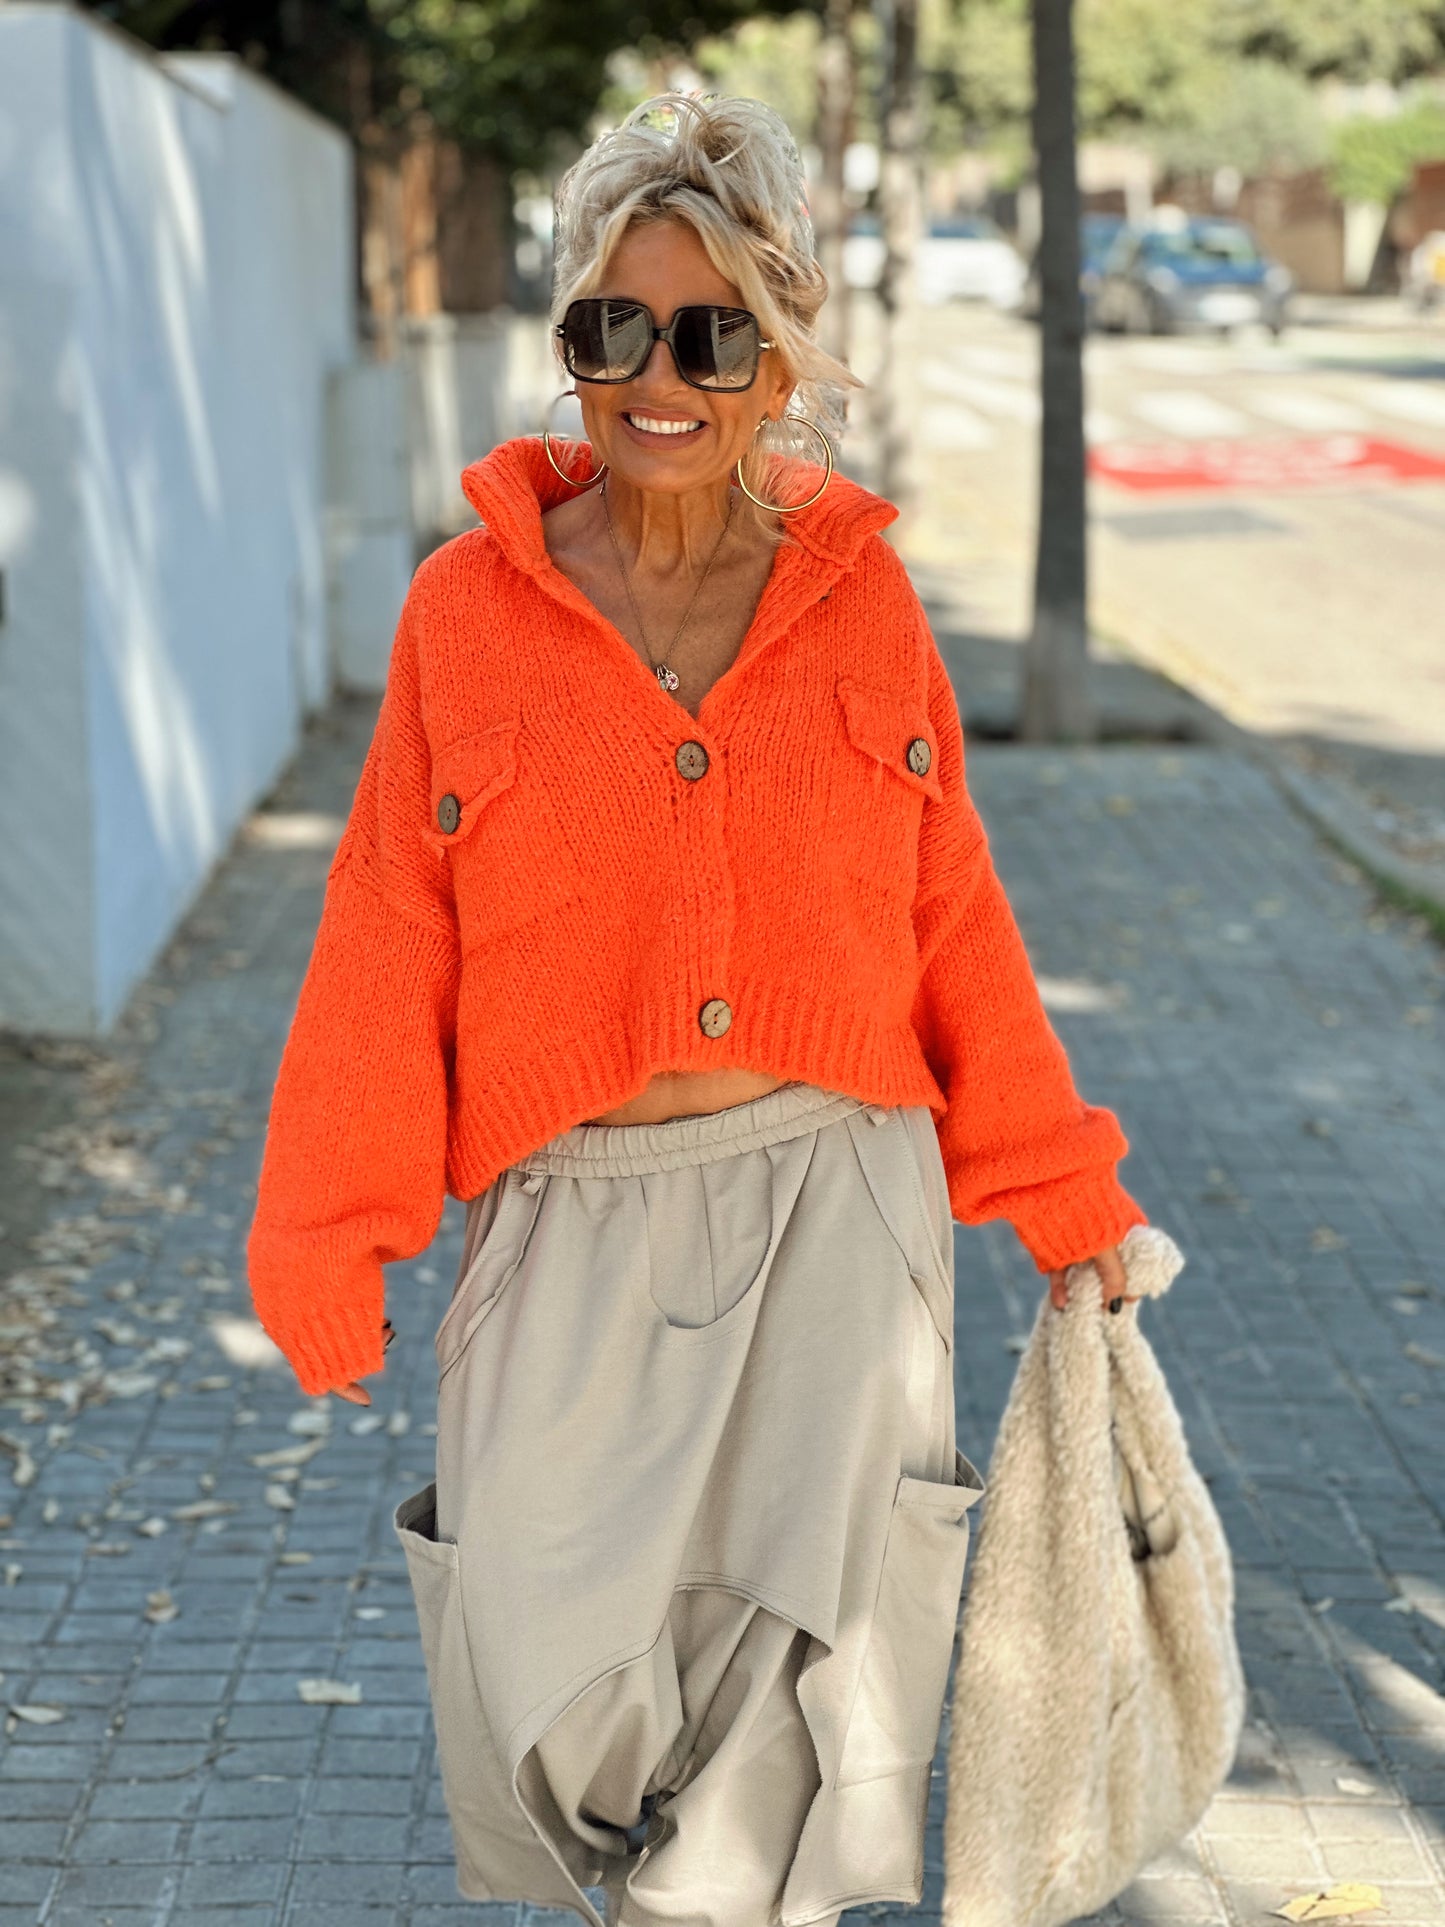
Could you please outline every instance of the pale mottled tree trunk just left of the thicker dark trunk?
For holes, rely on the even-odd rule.
[[[909,461],[909,355],[913,252],[919,233],[919,0],[884,0],[882,170],[882,366],[875,387],[879,493],[907,511],[913,495]],[[896,526],[896,524],[894,524]]]

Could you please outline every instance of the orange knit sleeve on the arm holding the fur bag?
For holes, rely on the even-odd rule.
[[[938,1145],[954,1216],[1008,1218],[1038,1272],[1092,1258],[1148,1218],[1117,1179],[1129,1141],[1085,1104],[1035,985],[963,775],[963,728],[921,605],[942,798],[923,815],[913,1025],[948,1098]]]

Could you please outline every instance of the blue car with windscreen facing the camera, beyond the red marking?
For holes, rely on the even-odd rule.
[[[1094,324],[1116,333],[1229,333],[1285,326],[1295,277],[1270,260],[1245,222],[1181,214],[1123,227],[1098,272]]]

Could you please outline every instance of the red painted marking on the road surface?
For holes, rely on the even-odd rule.
[[[1316,488],[1322,482],[1445,482],[1445,457],[1372,436],[1293,441],[1114,441],[1089,451],[1100,482],[1141,493]]]

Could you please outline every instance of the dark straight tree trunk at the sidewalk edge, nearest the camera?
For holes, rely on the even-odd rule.
[[[1033,81],[1042,212],[1038,349],[1044,410],[1035,611],[1019,736],[1025,742],[1092,742],[1071,0],[1033,0]]]

